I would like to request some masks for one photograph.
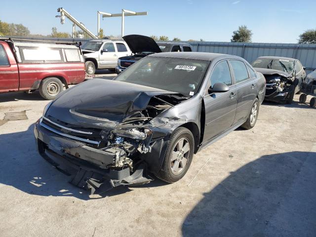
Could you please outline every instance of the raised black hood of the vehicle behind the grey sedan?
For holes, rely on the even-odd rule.
[[[128,35],[123,36],[132,53],[153,52],[161,53],[161,49],[155,40],[147,36]]]

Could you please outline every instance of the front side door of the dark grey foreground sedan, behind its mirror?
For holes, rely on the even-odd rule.
[[[234,122],[237,96],[227,60],[218,62],[211,74],[208,87],[217,82],[225,83],[230,90],[209,94],[205,91],[205,128],[203,143],[228,130]]]

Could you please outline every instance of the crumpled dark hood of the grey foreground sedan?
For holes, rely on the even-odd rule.
[[[45,117],[78,126],[113,127],[144,110],[153,96],[173,93],[128,82],[91,79],[68,89],[53,101]]]

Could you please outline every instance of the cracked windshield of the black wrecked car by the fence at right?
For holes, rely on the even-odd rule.
[[[292,73],[294,61],[286,59],[257,58],[252,64],[254,68],[267,68]]]

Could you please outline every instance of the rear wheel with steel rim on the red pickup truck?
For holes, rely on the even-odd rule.
[[[40,96],[46,100],[53,100],[64,89],[63,83],[58,78],[46,78],[40,82]]]

